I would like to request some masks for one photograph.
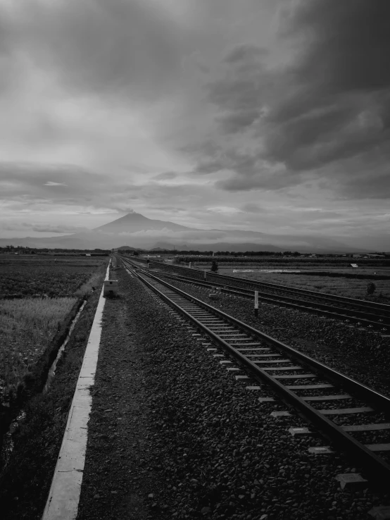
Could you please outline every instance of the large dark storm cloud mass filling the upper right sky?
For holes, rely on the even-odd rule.
[[[390,2],[304,0],[288,8],[281,35],[295,46],[289,66],[271,69],[261,49],[240,46],[225,59],[225,77],[209,85],[220,130],[237,138],[229,144],[233,155],[247,153],[240,151],[244,133],[258,142],[249,154],[251,171],[241,168],[241,157],[233,159],[228,167],[235,175],[219,186],[279,189],[299,184],[298,173],[310,171],[332,178],[346,197],[387,197],[382,165],[390,159]],[[363,165],[366,155],[370,170],[357,175],[354,159]],[[259,161],[282,164],[285,172],[267,176]],[[221,165],[215,153],[203,163],[213,171]]]

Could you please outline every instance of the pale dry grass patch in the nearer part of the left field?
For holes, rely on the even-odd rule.
[[[75,302],[75,297],[0,300],[0,401],[30,372]]]

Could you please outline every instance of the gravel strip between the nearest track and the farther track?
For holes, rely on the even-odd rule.
[[[208,297],[209,290],[173,280],[169,283],[378,392],[390,395],[390,338],[272,304],[260,304],[256,318],[251,301],[223,294],[215,301]]]

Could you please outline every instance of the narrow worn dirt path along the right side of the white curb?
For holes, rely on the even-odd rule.
[[[134,283],[122,276],[121,285],[120,299],[107,299],[104,310],[80,520],[144,519],[145,494],[161,487],[158,471],[146,462],[154,446],[145,392],[150,354],[141,332],[144,312],[134,306]]]

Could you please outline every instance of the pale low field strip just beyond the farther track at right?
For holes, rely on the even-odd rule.
[[[242,268],[239,268],[241,271]],[[250,269],[250,268],[248,268]],[[376,290],[374,295],[368,296],[367,282],[370,280],[362,280],[355,278],[331,278],[327,276],[310,276],[289,273],[261,273],[256,272],[259,268],[253,268],[253,273],[233,273],[233,268],[220,268],[218,273],[229,276],[239,276],[248,278],[249,280],[258,280],[259,282],[277,283],[280,285],[289,285],[290,287],[298,287],[310,291],[325,292],[330,295],[346,296],[348,298],[367,299],[371,302],[381,302],[390,304],[390,280],[375,280]],[[243,269],[242,269],[243,270]],[[381,273],[389,274],[389,271],[367,270],[375,272],[377,275]],[[346,271],[351,273],[351,271]],[[370,273],[371,274],[371,273]],[[380,296],[382,293],[382,297]]]

